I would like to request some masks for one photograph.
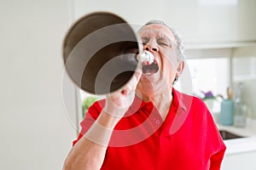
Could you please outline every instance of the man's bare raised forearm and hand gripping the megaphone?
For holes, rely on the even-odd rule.
[[[131,105],[130,99],[135,95],[133,92],[141,74],[137,72],[123,90],[107,96],[106,105],[96,122],[70,150],[63,170],[97,170],[102,167],[113,128]]]

